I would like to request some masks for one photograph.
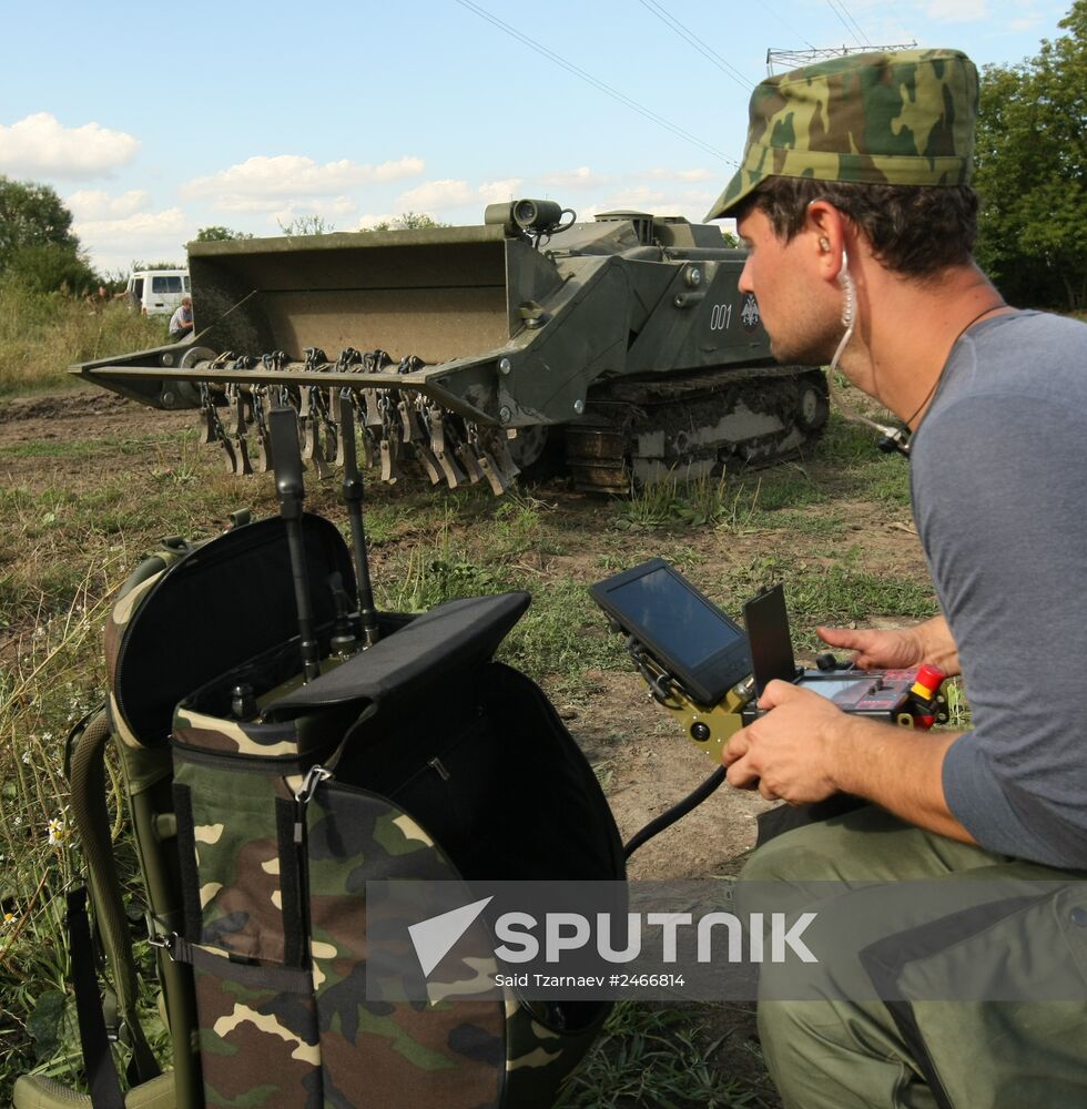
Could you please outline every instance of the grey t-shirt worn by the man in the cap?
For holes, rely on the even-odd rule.
[[[974,720],[944,761],[947,804],[983,847],[1087,867],[1087,325],[972,327],[911,484]]]

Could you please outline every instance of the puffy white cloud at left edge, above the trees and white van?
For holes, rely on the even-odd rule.
[[[79,181],[109,176],[135,157],[140,140],[98,123],[65,128],[37,112],[11,126],[0,125],[0,172]]]

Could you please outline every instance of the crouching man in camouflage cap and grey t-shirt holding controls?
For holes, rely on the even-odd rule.
[[[914,433],[913,508],[942,614],[820,634],[861,667],[962,673],[973,710],[968,731],[920,733],[770,682],[760,705],[772,711],[731,739],[724,763],[733,785],[798,806],[785,812],[802,826],[755,852],[740,889],[837,882],[816,906],[824,934],[857,935],[851,973],[865,967],[870,987],[861,939],[893,935],[892,962],[917,959],[920,922],[907,906],[864,936],[842,883],[880,884],[891,904],[910,879],[989,885],[963,883],[969,872],[1060,881],[1081,904],[1044,897],[1049,923],[1037,926],[984,906],[986,925],[1005,922],[991,989],[1019,998],[1006,1004],[992,991],[958,1000],[953,985],[912,997],[901,967],[867,999],[829,970],[807,996],[840,1000],[790,1000],[795,968],[764,965],[760,1031],[789,1107],[1087,1105],[1087,991],[1069,949],[1087,943],[1087,326],[1017,312],[973,262],[977,99],[974,65],[952,50],[771,78],[710,212],[733,216],[750,248],[740,288],[758,298],[778,359],[840,366]],[[843,795],[857,798],[845,815],[802,822],[799,806]],[[993,950],[929,948],[926,980],[947,984],[948,952],[979,966]],[[1071,1000],[1032,993],[1046,959],[1078,985]],[[878,999],[887,988],[896,1004]]]

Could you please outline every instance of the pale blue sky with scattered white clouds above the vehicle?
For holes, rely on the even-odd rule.
[[[55,189],[110,274],[182,262],[211,225],[473,224],[522,196],[580,220],[700,221],[742,153],[768,50],[915,42],[1008,65],[1057,38],[1069,7],[0,0],[0,174]]]

